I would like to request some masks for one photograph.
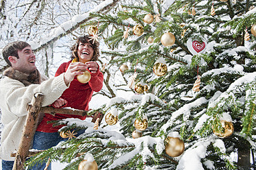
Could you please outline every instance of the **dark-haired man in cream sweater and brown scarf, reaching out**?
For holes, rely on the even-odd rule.
[[[75,75],[81,75],[80,70],[88,69],[82,62],[69,65],[67,71],[46,80],[36,69],[36,56],[27,42],[15,41],[3,48],[3,58],[10,68],[3,72],[5,77],[0,82],[0,108],[3,131],[1,134],[0,158],[2,170],[12,169],[14,158],[10,157],[17,151],[21,134],[27,117],[27,104],[37,92],[44,94],[42,106],[55,104],[61,106],[65,100],[58,99],[69,87]]]

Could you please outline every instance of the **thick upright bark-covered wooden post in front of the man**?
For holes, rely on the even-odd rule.
[[[36,132],[36,123],[38,121],[38,113],[43,101],[43,94],[36,93],[32,99],[32,104],[27,106],[28,114],[25,125],[23,127],[23,134],[21,136],[21,142],[19,149],[15,156],[14,165],[12,170],[23,170],[24,162],[29,154],[29,149]]]

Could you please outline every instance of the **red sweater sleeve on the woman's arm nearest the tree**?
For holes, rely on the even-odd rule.
[[[91,72],[90,72],[91,73]],[[91,90],[98,92],[102,90],[104,76],[100,69],[97,69],[96,73],[91,73],[91,80],[89,81],[89,86]]]

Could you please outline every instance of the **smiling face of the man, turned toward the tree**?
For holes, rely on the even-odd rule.
[[[22,50],[18,50],[19,58],[14,63],[14,69],[23,73],[30,74],[36,70],[36,56],[34,55],[31,47],[25,47]]]

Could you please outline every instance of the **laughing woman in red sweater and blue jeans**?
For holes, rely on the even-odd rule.
[[[93,91],[97,92],[102,89],[103,74],[100,72],[99,65],[95,62],[100,56],[99,42],[95,41],[93,43],[93,40],[89,39],[88,35],[80,36],[78,38],[75,44],[71,47],[71,60],[62,63],[56,71],[55,76],[65,73],[71,63],[82,62],[86,65],[87,71],[91,74],[91,80],[87,83],[81,83],[78,81],[77,77],[75,77],[70,83],[69,88],[67,88],[67,90],[62,93],[60,99],[53,104],[56,108],[63,107],[64,105],[65,107],[79,110],[89,110],[89,101],[91,101]],[[60,141],[64,141],[65,139],[60,137],[60,134],[58,133],[58,130],[62,125],[53,127],[52,123],[47,123],[47,121],[67,118],[84,120],[86,119],[86,116],[82,117],[68,114],[56,114],[55,116],[52,116],[51,114],[45,114],[36,130],[33,149],[49,149],[50,147],[57,145]],[[79,134],[82,134],[82,132],[78,132],[78,135]]]

